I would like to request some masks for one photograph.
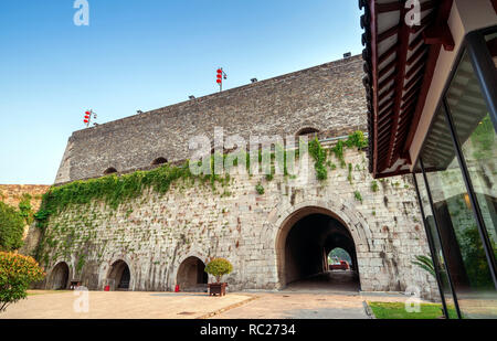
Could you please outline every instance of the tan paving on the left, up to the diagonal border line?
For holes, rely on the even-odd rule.
[[[32,291],[33,292],[33,291]],[[34,290],[28,299],[9,306],[0,319],[194,319],[251,299],[243,294],[210,297],[205,294],[88,291],[88,312],[75,312],[78,297],[71,292]]]

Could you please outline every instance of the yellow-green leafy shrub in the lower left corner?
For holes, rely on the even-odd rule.
[[[25,298],[30,284],[44,277],[45,273],[32,257],[0,252],[0,312]]]

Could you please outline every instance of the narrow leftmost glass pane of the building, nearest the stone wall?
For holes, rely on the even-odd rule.
[[[419,168],[419,167],[417,167]],[[427,196],[426,185],[424,183],[423,174],[421,172],[415,174],[416,177],[416,183],[417,183],[417,190],[420,191],[420,199],[421,204],[423,206],[424,212],[424,224],[426,226],[427,233],[430,233],[431,238],[433,241],[433,248],[435,252],[435,255],[433,257],[436,257],[434,262],[434,266],[437,265],[436,270],[440,275],[441,280],[441,290],[444,294],[445,297],[445,305],[447,307],[448,318],[450,319],[457,319],[457,312],[455,310],[454,306],[454,297],[452,295],[451,285],[448,281],[448,274],[445,265],[444,255],[442,252],[442,243],[438,238],[438,234],[436,232],[436,225],[435,225],[435,219],[433,216],[432,207],[430,206],[430,200]]]

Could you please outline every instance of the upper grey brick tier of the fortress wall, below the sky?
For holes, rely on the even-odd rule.
[[[55,183],[148,168],[190,157],[190,138],[286,137],[303,128],[366,130],[362,58],[353,56],[73,132]]]

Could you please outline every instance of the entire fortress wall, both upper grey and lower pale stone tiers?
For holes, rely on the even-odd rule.
[[[366,130],[362,76],[361,57],[353,56],[75,131],[55,184],[98,178],[108,168],[149,169],[160,157],[188,159],[189,139],[212,138],[214,127],[245,138],[295,136],[305,128],[331,137]],[[73,205],[50,217],[44,235],[32,226],[28,244],[45,243],[47,288],[64,277],[55,271],[62,264],[68,280],[89,289],[103,289],[116,264],[126,264],[130,290],[172,290],[189,257],[225,257],[234,267],[225,278],[230,290],[279,289],[287,285],[285,239],[293,224],[318,213],[350,234],[362,290],[414,286],[423,297],[436,297],[434,279],[411,263],[429,248],[410,177],[379,181],[372,190],[366,158],[347,150],[350,168],[330,168],[325,181],[307,160],[311,177],[304,182],[235,174],[214,191],[181,181],[163,195],[145,190],[116,210],[101,201]]]

